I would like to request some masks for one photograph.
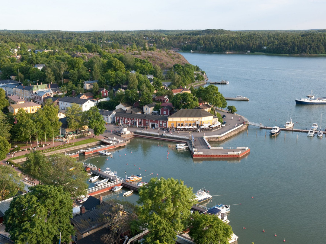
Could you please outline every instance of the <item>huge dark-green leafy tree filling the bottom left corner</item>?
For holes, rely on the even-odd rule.
[[[37,185],[15,197],[5,212],[4,224],[17,244],[67,243],[74,233],[70,223],[72,200],[62,187]]]

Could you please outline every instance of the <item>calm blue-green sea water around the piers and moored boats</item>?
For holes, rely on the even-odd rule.
[[[311,90],[326,97],[326,58],[182,55],[205,70],[209,80],[228,80],[229,85],[217,85],[224,97],[248,97],[248,102],[228,101],[228,105],[249,121],[283,127],[292,117],[295,128],[308,129],[315,122],[320,126],[322,114],[325,130],[326,105],[296,105],[294,100]],[[234,204],[229,219],[239,244],[283,243],[284,238],[286,243],[325,243],[325,137],[282,131],[271,138],[268,131],[265,136],[265,130],[249,126],[248,131],[212,145],[248,146],[251,152],[241,160],[193,160],[188,151],[172,150],[173,143],[135,138],[112,158],[86,161],[102,169],[110,167],[121,177],[125,171],[128,176],[141,174],[143,181],[173,177],[194,192],[210,190],[214,197],[207,206]],[[122,194],[112,197],[122,198]],[[137,194],[128,199],[135,202]]]

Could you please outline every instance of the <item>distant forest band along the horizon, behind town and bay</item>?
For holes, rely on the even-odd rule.
[[[0,56],[8,47],[25,43],[31,49],[95,52],[99,48],[171,49],[203,52],[273,54],[325,54],[326,30],[140,30],[140,31],[40,31],[1,30]],[[10,49],[9,48],[9,49]]]

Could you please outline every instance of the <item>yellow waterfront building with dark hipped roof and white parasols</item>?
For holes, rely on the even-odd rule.
[[[169,127],[196,126],[217,123],[217,117],[203,109],[181,109],[168,117]]]

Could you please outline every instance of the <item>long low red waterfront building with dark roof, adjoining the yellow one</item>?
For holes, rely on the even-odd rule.
[[[116,113],[115,122],[119,124],[133,125],[138,127],[167,128],[168,116],[153,114],[129,114]]]

